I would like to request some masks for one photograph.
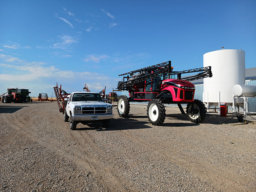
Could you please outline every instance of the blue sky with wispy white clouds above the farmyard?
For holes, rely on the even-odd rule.
[[[256,67],[256,1],[0,1],[0,94],[117,87],[129,72],[171,60],[203,67],[203,55],[246,52]]]

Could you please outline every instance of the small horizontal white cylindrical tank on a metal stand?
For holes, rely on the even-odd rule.
[[[237,97],[255,97],[256,96],[256,86],[254,85],[234,85],[232,88],[232,93]]]

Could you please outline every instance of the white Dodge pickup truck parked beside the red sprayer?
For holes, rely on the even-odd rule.
[[[104,103],[100,94],[95,92],[73,92],[65,99],[66,108],[64,121],[75,130],[77,123],[87,124],[92,121],[101,121],[104,128],[108,128],[113,118],[112,105]]]

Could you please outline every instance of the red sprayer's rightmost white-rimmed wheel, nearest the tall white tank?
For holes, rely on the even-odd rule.
[[[195,99],[194,111],[192,111],[192,103],[187,104],[186,112],[188,119],[193,123],[201,123],[206,117],[206,107],[200,100]]]

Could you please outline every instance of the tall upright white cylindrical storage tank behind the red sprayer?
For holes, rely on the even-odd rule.
[[[211,66],[212,77],[204,78],[203,102],[209,101],[209,107],[218,105],[220,92],[220,102],[232,105],[233,86],[245,83],[245,51],[221,49],[208,52],[204,54],[204,67],[208,66]]]

